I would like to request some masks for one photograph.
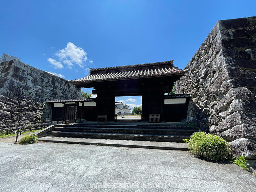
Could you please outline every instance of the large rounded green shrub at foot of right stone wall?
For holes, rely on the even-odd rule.
[[[183,141],[188,143],[191,153],[213,161],[227,158],[230,151],[228,143],[223,138],[202,131],[193,133],[189,140]]]

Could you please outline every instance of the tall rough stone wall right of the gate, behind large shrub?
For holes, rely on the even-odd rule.
[[[218,21],[186,69],[177,94],[193,96],[187,121],[256,159],[256,17]]]

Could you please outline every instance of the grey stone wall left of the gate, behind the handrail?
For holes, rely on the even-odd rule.
[[[0,125],[48,120],[52,99],[81,98],[70,81],[18,60],[0,63]]]

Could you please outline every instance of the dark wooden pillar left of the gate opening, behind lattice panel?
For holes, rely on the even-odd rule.
[[[115,120],[115,95],[113,93],[97,93],[96,116],[107,115],[108,122]],[[97,117],[96,117],[97,118]]]

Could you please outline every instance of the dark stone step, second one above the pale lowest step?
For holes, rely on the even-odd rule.
[[[101,127],[54,127],[53,131],[93,132],[93,133],[132,133],[157,135],[191,135],[198,129],[142,129],[142,128],[101,128]]]

